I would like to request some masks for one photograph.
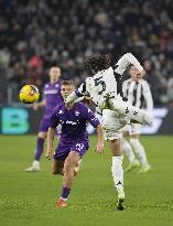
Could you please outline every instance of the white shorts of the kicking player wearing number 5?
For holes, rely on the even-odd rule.
[[[127,125],[128,119],[118,111],[104,109],[101,125],[105,140],[118,140],[122,138],[121,128]]]

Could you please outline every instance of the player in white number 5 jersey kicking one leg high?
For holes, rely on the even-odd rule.
[[[111,172],[118,191],[118,209],[123,209],[122,202],[125,200],[122,151],[120,148],[122,133],[120,129],[125,127],[129,118],[141,123],[151,123],[149,114],[122,100],[121,75],[129,64],[133,64],[141,75],[144,74],[143,67],[130,53],[125,54],[115,68],[110,66],[109,55],[90,56],[87,66],[94,76],[86,78],[84,84],[66,99],[66,104],[69,105],[79,96],[89,95],[102,111],[105,139],[109,141],[112,152]]]

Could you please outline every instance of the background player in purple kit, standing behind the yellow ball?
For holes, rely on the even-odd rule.
[[[34,161],[30,168],[25,169],[26,172],[40,171],[40,159],[43,153],[44,141],[50,127],[50,116],[53,109],[63,101],[61,96],[61,83],[58,82],[60,77],[61,68],[57,66],[51,67],[50,83],[44,85],[44,99],[33,107],[34,110],[39,110],[41,107],[44,107],[45,110],[39,127]]]

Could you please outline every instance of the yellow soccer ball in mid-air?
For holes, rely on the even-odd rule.
[[[21,88],[19,98],[24,104],[33,104],[37,101],[40,93],[36,86],[25,85]]]

